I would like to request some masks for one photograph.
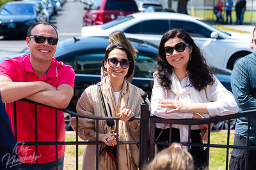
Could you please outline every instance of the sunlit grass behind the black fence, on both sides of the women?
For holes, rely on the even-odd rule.
[[[65,141],[76,141],[76,135],[66,135]],[[82,141],[79,138],[79,141]],[[234,132],[230,132],[230,145],[234,143]],[[227,132],[211,132],[211,144],[227,145]],[[82,155],[85,145],[78,146],[78,155]],[[231,150],[228,151],[230,153]],[[76,157],[76,145],[66,145],[65,155]],[[210,148],[209,170],[225,169],[227,149]],[[230,155],[228,156],[228,162]]]

